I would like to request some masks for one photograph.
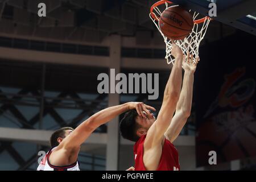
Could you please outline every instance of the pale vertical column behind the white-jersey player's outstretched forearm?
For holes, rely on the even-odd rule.
[[[120,72],[121,67],[121,37],[113,35],[110,43],[110,64],[109,64],[109,77],[110,69],[115,69],[115,75]],[[110,82],[109,82],[110,83]],[[115,86],[110,84],[110,86]],[[115,88],[112,88],[115,89]],[[109,88],[111,90],[111,88]],[[109,94],[109,106],[119,105],[119,94]],[[119,117],[114,118],[108,123],[108,142],[106,150],[106,170],[116,171],[118,169],[118,124]]]

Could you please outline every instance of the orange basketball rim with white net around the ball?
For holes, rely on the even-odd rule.
[[[162,33],[158,23],[160,19],[159,16],[161,16],[163,13],[159,10],[158,6],[163,4],[166,5],[166,9],[172,6],[179,6],[179,5],[173,5],[171,1],[161,0],[159,2],[156,2],[154,5],[152,5],[150,9],[150,18],[154,22],[156,28],[158,28],[160,34],[164,38],[164,42],[166,43],[165,58],[167,60],[167,64],[171,64],[171,63],[174,64],[175,59],[171,57],[172,42]],[[168,6],[169,4],[171,6]],[[189,12],[191,12],[191,10],[189,10]],[[158,14],[159,16],[157,16],[155,13]],[[197,16],[199,16],[199,13],[196,13],[196,12],[193,13],[194,25],[193,25],[192,32],[186,38],[184,38],[184,40],[174,40],[177,46],[179,46],[183,51],[183,54],[186,56],[186,59],[187,59],[188,51],[190,52],[191,55],[194,56],[193,57],[194,63],[196,62],[196,58],[199,56],[200,42],[204,39],[205,33],[207,32],[207,28],[211,20],[208,16],[205,16],[204,18],[196,20]],[[199,26],[199,24],[201,25]]]

